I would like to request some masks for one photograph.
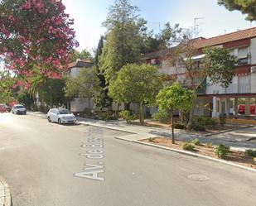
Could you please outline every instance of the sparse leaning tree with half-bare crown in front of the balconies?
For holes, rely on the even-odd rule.
[[[188,129],[192,126],[199,89],[204,89],[207,78],[211,84],[227,88],[233,79],[236,63],[234,56],[229,55],[229,50],[220,47],[203,49],[205,56],[202,55],[200,61],[195,60],[195,56],[199,54],[196,43],[197,41],[183,39],[179,46],[171,50],[171,65],[176,67],[177,74],[179,70],[185,69],[187,86],[194,91]]]

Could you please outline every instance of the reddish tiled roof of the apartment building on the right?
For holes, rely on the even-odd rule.
[[[196,42],[196,47],[203,48],[205,46],[216,46],[226,42],[250,39],[252,37],[256,37],[256,27],[241,31],[234,31],[229,34],[215,36],[209,39],[203,39]]]

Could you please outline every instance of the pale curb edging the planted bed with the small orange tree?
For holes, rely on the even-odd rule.
[[[179,153],[181,155],[198,157],[198,158],[204,159],[204,160],[211,160],[211,161],[219,162],[219,163],[226,164],[226,165],[232,165],[232,166],[238,167],[240,169],[249,170],[251,172],[256,173],[256,169],[254,169],[254,168],[249,168],[247,166],[238,165],[238,164],[229,162],[227,160],[220,160],[220,159],[215,159],[215,158],[212,158],[212,157],[209,157],[209,156],[198,155],[198,154],[195,154],[195,153],[193,153],[191,151],[181,151],[181,150],[177,150],[177,149],[172,149],[172,148],[167,147],[167,146],[157,146],[157,145],[154,145],[154,144],[151,144],[151,143],[147,143],[147,142],[142,142],[142,141],[131,141],[131,140],[124,139],[122,137],[114,137],[114,138],[118,139],[118,140],[122,140],[122,141],[130,141],[130,142],[137,143],[137,144],[144,145],[144,146],[153,146],[153,147],[157,147],[157,148],[160,148],[160,149],[163,149],[163,150],[167,150],[167,151],[174,151],[174,152]]]

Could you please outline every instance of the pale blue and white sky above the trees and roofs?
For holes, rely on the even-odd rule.
[[[102,22],[108,15],[108,9],[114,0],[62,0],[65,12],[75,19],[76,39],[79,50],[90,52],[97,47],[99,37],[106,31]],[[182,28],[192,28],[197,21],[199,36],[206,38],[220,36],[256,26],[256,22],[245,20],[239,11],[229,12],[217,4],[217,0],[131,0],[140,9],[141,17],[147,20],[147,27],[155,33],[166,22],[179,23]]]

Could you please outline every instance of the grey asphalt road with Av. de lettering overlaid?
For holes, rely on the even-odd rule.
[[[0,113],[14,206],[255,206],[256,174],[118,141],[122,132]]]

